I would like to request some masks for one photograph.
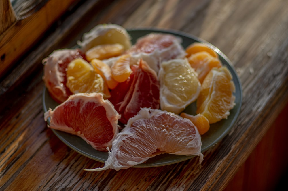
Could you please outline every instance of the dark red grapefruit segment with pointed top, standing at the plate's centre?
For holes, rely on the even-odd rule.
[[[131,68],[130,78],[111,90],[109,98],[121,115],[119,121],[123,124],[126,124],[143,107],[151,109],[160,107],[160,84],[155,71],[143,60],[139,61],[139,65],[132,65]]]

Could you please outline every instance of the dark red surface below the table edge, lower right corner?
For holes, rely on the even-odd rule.
[[[288,105],[224,191],[269,191],[288,174]],[[279,187],[278,187],[279,188]]]

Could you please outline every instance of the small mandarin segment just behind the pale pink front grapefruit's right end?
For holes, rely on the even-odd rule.
[[[204,135],[210,128],[208,119],[201,113],[197,115],[181,113],[180,116],[189,119],[196,126],[200,135]]]

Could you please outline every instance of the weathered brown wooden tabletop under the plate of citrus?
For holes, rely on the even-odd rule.
[[[209,41],[232,61],[243,90],[240,115],[230,133],[203,153],[202,165],[194,157],[162,167],[87,172],[103,163],[73,151],[47,128],[41,60],[103,23],[181,30]],[[287,168],[288,1],[76,1],[30,43],[1,74],[0,190],[271,190]],[[261,140],[264,146],[257,146]],[[257,179],[267,178],[272,163],[278,164],[276,180]],[[243,177],[255,181],[243,186]],[[262,187],[253,187],[255,182]]]

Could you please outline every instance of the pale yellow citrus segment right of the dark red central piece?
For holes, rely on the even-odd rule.
[[[159,70],[160,108],[179,114],[200,93],[197,74],[187,59],[162,62]]]

